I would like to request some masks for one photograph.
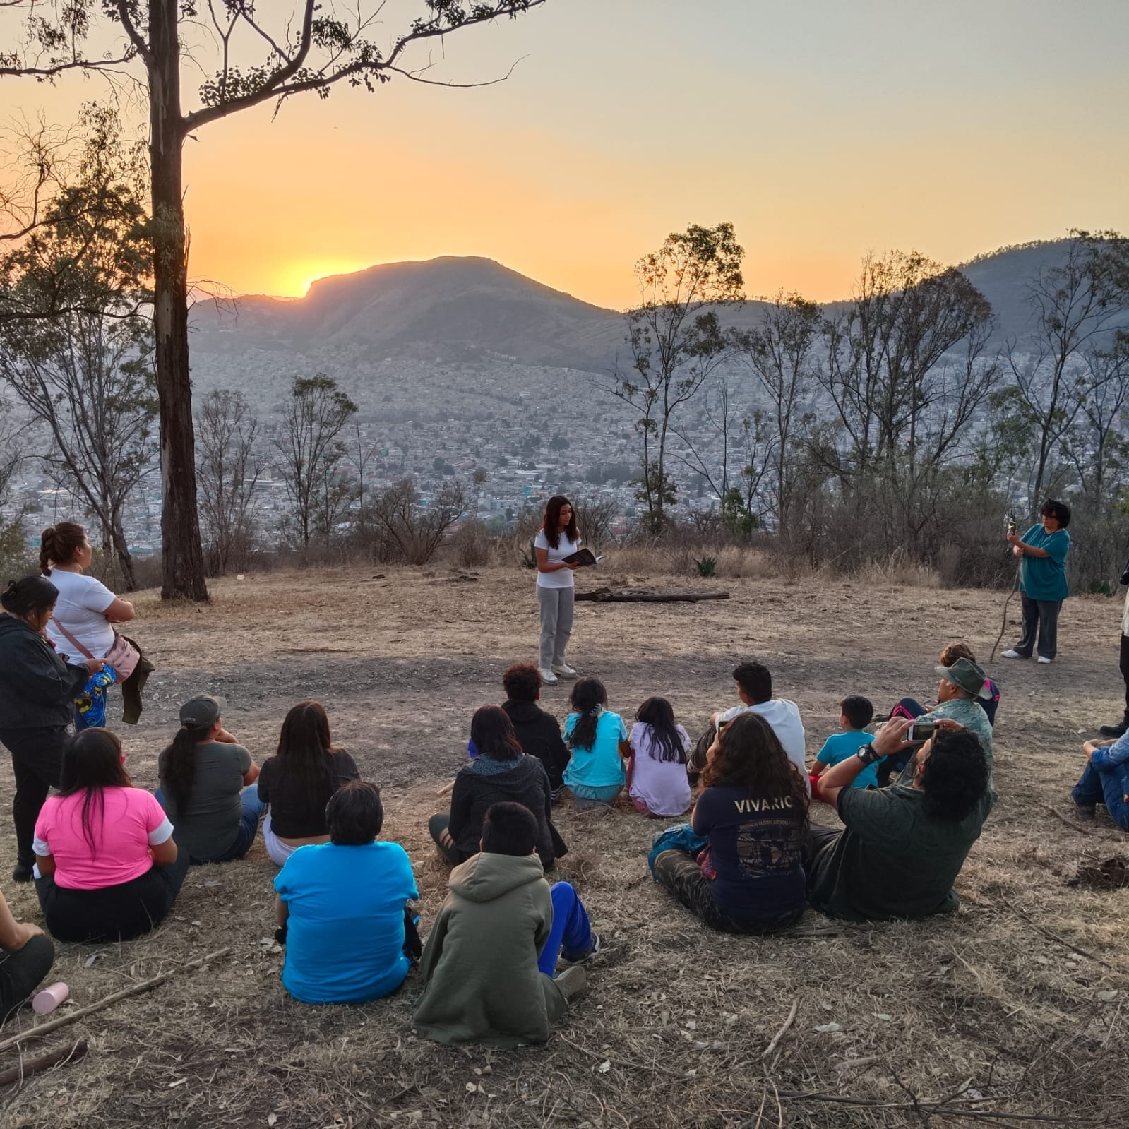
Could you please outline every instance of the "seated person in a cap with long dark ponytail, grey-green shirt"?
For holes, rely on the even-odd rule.
[[[198,694],[181,707],[181,728],[157,759],[157,799],[193,866],[243,858],[265,804],[252,787],[259,767],[227,729],[225,702]]]

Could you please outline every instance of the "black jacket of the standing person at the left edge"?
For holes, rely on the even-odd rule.
[[[0,729],[67,725],[89,679],[24,620],[0,613]]]

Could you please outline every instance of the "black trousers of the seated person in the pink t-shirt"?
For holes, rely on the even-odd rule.
[[[168,916],[189,872],[187,851],[139,878],[102,890],[68,890],[53,877],[36,878],[47,928],[59,940],[130,940]]]

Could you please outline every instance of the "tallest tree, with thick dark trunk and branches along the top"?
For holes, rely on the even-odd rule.
[[[157,391],[160,401],[161,596],[207,599],[195,490],[195,437],[189,374],[189,240],[184,218],[184,140],[211,122],[264,102],[315,94],[339,85],[373,91],[393,77],[436,82],[430,63],[413,67],[415,45],[445,43],[454,32],[516,17],[544,0],[418,0],[419,15],[387,47],[374,35],[386,16],[368,0],[338,17],[320,0],[291,0],[266,12],[253,0],[207,6],[207,21],[184,0],[68,0],[47,7],[9,0],[24,33],[0,42],[0,77],[53,80],[70,71],[119,76],[143,72],[149,103]],[[264,6],[265,7],[265,6]],[[270,19],[269,17],[273,17]],[[203,24],[205,36],[194,35]],[[100,51],[95,44],[111,42]],[[198,42],[199,41],[199,42]],[[189,44],[189,50],[185,50]],[[212,61],[205,59],[213,52]],[[182,55],[205,78],[198,105],[182,106]],[[455,84],[448,84],[455,85]]]

